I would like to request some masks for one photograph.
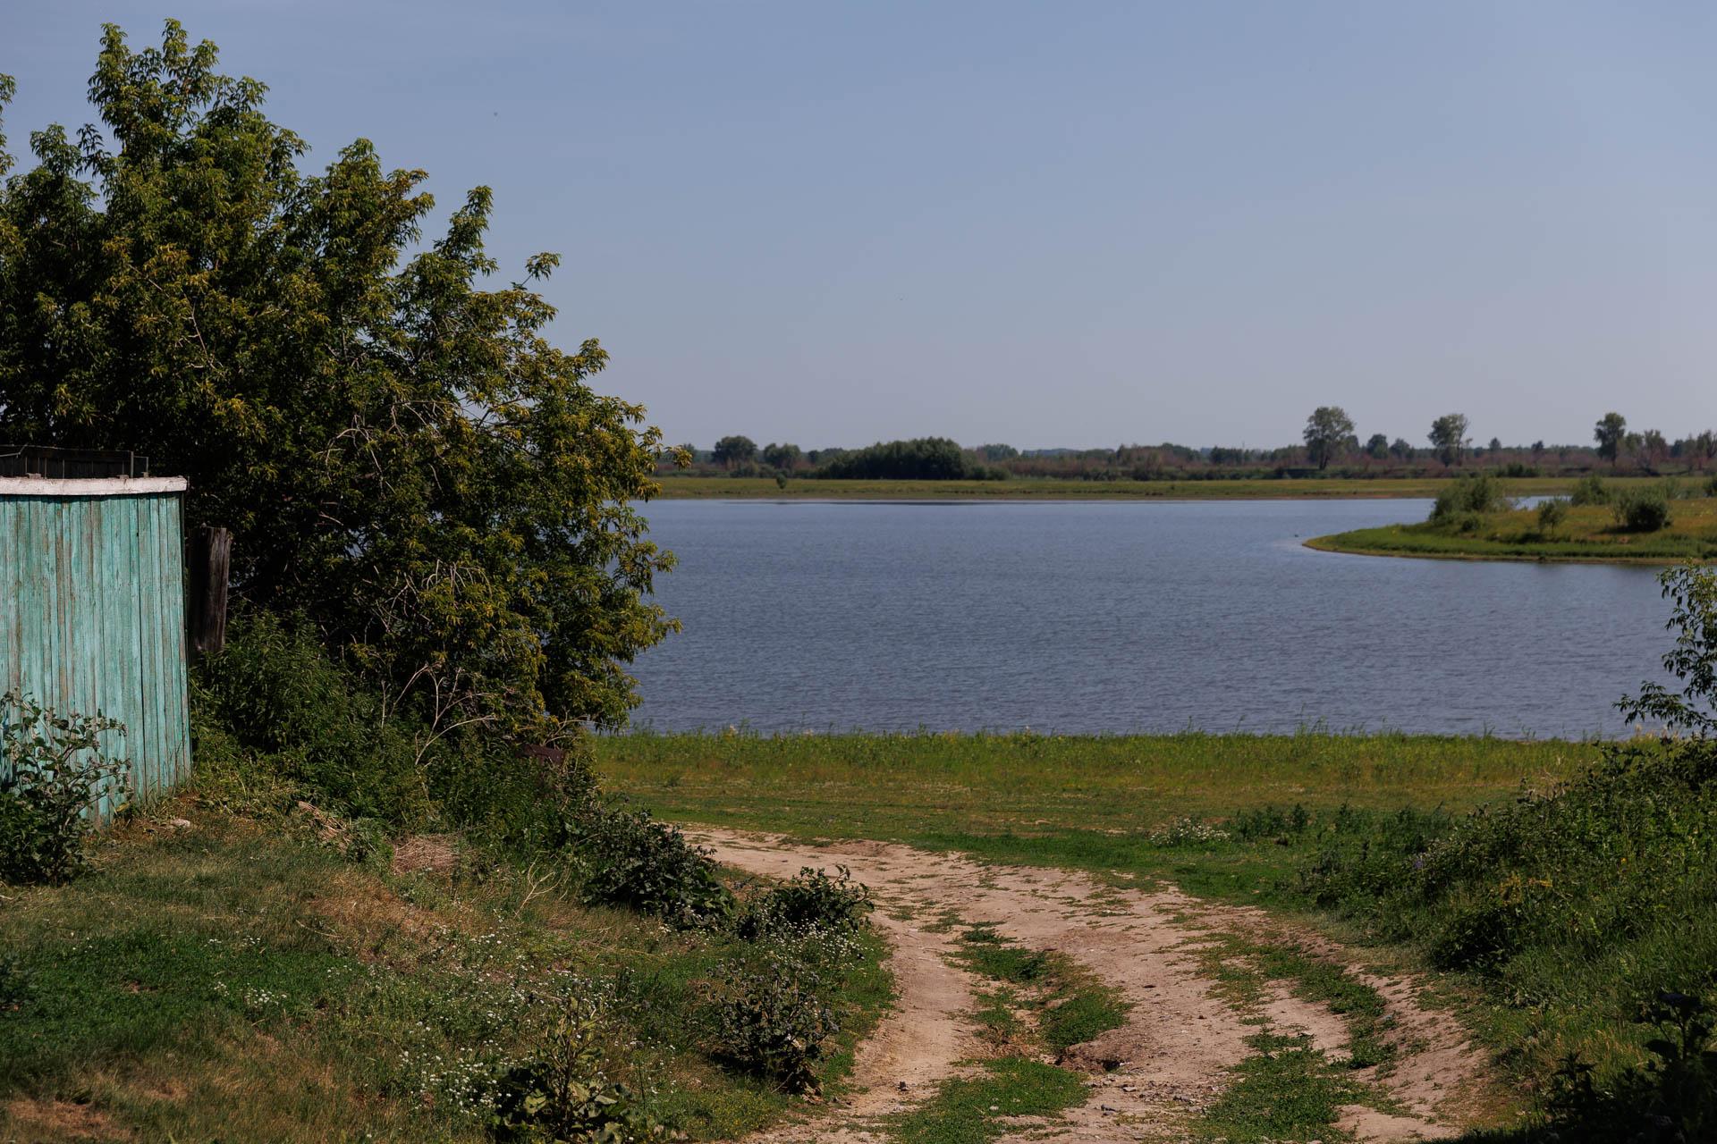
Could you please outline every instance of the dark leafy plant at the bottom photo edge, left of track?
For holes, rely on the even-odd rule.
[[[536,1051],[493,1084],[486,1105],[500,1141],[517,1144],[634,1144],[675,1135],[646,1115],[623,1084],[603,1072],[603,1045],[611,1034],[589,1002],[563,1009]]]

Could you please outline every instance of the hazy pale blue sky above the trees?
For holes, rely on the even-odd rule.
[[[1717,425],[1717,5],[9,0],[10,148],[173,15],[671,441],[1274,446]]]

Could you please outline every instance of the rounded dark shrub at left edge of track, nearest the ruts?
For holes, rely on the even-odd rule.
[[[716,1002],[716,1055],[788,1091],[817,1091],[814,1067],[840,1033],[826,993],[822,974],[792,955],[731,967]]]

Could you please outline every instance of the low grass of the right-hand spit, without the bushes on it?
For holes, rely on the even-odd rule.
[[[1518,494],[1511,494],[1518,496]],[[1430,556],[1441,559],[1490,561],[1640,561],[1665,564],[1684,559],[1717,559],[1717,497],[1671,503],[1667,528],[1648,533],[1616,525],[1609,506],[1585,504],[1568,509],[1568,520],[1552,533],[1538,527],[1533,509],[1487,516],[1477,532],[1444,525],[1387,525],[1356,528],[1307,540],[1326,552],[1362,556]]]

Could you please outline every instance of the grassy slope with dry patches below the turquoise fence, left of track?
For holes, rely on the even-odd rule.
[[[5,890],[0,1139],[488,1139],[472,1077],[532,1053],[570,995],[610,998],[604,1067],[694,1139],[798,1105],[706,1053],[699,998],[737,938],[476,854],[393,875],[288,823],[167,813],[197,827],[134,823],[91,875]],[[838,998],[834,1091],[889,1002],[881,957],[865,938]]]

